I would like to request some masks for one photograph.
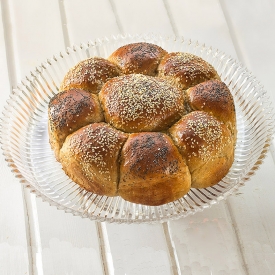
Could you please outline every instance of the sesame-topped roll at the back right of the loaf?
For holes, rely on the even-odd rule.
[[[220,79],[208,62],[196,55],[182,52],[165,55],[159,64],[158,76],[168,77],[183,90],[209,79]]]

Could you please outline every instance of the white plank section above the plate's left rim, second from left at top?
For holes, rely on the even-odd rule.
[[[9,1],[17,82],[64,49],[58,2]],[[16,84],[16,83],[14,83]]]

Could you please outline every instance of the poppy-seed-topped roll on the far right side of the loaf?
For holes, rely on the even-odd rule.
[[[205,111],[227,125],[236,136],[236,111],[230,90],[220,80],[212,79],[186,91],[192,110]]]

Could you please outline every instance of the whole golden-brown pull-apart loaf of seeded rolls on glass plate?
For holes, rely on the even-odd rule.
[[[228,173],[234,100],[205,60],[133,43],[65,75],[49,103],[49,138],[87,191],[161,205]]]

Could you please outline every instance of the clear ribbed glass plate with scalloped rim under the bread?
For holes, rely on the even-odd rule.
[[[139,41],[158,44],[168,52],[190,52],[207,60],[230,88],[237,110],[235,161],[226,177],[213,187],[191,189],[181,199],[161,206],[144,206],[85,191],[65,175],[48,142],[48,102],[58,92],[68,69],[80,60],[106,58],[118,47]],[[1,121],[1,143],[12,172],[58,209],[99,221],[163,222],[210,207],[250,179],[266,156],[273,129],[273,110],[263,87],[226,54],[182,37],[119,35],[68,48],[36,68],[13,90],[7,102]]]

